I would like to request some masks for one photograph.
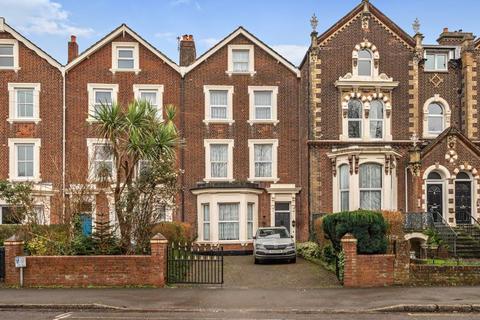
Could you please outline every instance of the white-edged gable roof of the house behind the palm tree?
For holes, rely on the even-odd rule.
[[[164,55],[158,49],[156,49],[153,45],[148,43],[145,39],[139,36],[135,31],[130,29],[130,27],[128,27],[126,24],[122,24],[121,26],[119,26],[118,28],[110,32],[108,35],[106,35],[105,37],[103,37],[102,39],[94,43],[90,48],[83,51],[78,57],[73,59],[69,64],[65,66],[65,71],[70,70],[71,68],[73,68],[74,66],[76,66],[77,64],[79,64],[80,62],[88,58],[89,56],[91,56],[97,50],[99,50],[100,48],[105,46],[107,43],[109,43],[110,41],[112,41],[113,39],[115,39],[116,37],[118,37],[120,34],[123,34],[123,33],[128,33],[129,35],[131,35],[140,44],[145,46],[148,50],[153,52],[157,57],[162,59],[166,64],[172,67],[175,71],[180,73],[180,68],[175,62],[170,60],[166,55]]]

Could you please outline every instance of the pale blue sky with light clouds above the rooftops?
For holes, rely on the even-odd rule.
[[[371,2],[409,34],[418,18],[424,43],[435,43],[444,27],[480,35],[479,0]],[[192,34],[199,56],[243,26],[298,65],[310,42],[312,14],[316,14],[317,29],[322,33],[358,3],[360,0],[0,0],[0,16],[62,64],[67,60],[70,35],[77,36],[83,51],[126,23],[174,61],[178,61],[178,36]]]

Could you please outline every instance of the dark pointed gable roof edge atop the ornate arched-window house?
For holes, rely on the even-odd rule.
[[[406,44],[410,47],[415,47],[415,39],[410,36],[406,31],[400,28],[397,24],[395,24],[390,18],[388,18],[385,14],[383,14],[380,10],[378,10],[373,4],[369,1],[363,0],[359,5],[357,5],[352,11],[347,13],[342,19],[340,19],[337,23],[335,23],[332,27],[330,27],[327,31],[322,33],[318,37],[318,44],[321,44],[325,40],[327,40],[332,34],[336,33],[337,31],[341,30],[342,27],[348,24],[352,19],[357,17],[357,15],[361,14],[362,11],[365,9],[368,11],[380,22],[382,22],[388,29],[390,29],[395,35],[401,38]]]

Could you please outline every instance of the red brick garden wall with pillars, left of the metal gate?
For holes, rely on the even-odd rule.
[[[24,286],[139,286],[162,287],[166,278],[167,240],[155,236],[151,255],[144,256],[27,256]],[[15,256],[23,241],[5,241],[5,284],[19,285]]]

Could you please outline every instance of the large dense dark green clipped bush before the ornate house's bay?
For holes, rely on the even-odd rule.
[[[341,239],[347,233],[357,238],[358,253],[385,253],[387,250],[387,223],[379,212],[338,212],[329,214],[322,220],[323,230],[336,252],[342,250]]]

